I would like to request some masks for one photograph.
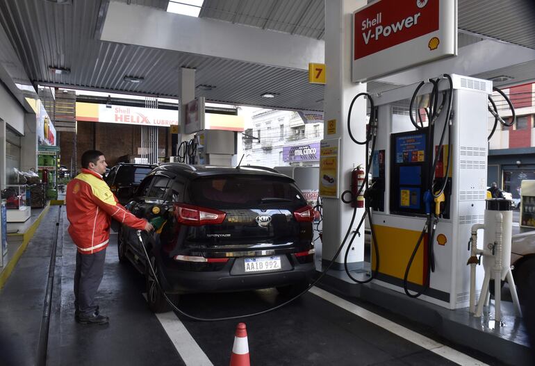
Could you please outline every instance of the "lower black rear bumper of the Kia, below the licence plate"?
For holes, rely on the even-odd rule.
[[[233,260],[219,271],[181,271],[170,266],[162,269],[165,291],[170,293],[231,292],[272,288],[310,281],[314,272],[314,262],[293,263],[290,270],[254,274],[231,274]]]

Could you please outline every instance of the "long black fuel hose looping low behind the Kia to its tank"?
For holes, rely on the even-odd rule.
[[[279,305],[274,306],[272,308],[268,308],[266,310],[258,311],[256,313],[250,313],[250,314],[245,314],[245,315],[235,315],[235,316],[232,316],[232,317],[218,317],[218,318],[196,317],[195,315],[190,315],[188,313],[185,313],[183,310],[181,310],[178,307],[176,307],[176,305],[174,305],[174,303],[169,299],[169,297],[167,297],[167,294],[165,293],[165,291],[161,287],[160,281],[158,280],[158,278],[156,277],[156,275],[154,273],[154,268],[152,267],[151,261],[149,260],[149,253],[147,253],[147,249],[145,248],[145,243],[143,242],[143,238],[141,237],[141,231],[138,230],[138,231],[136,231],[136,233],[137,233],[138,238],[140,240],[141,247],[143,248],[143,251],[145,253],[145,258],[147,259],[147,263],[148,263],[148,265],[149,265],[149,267],[151,269],[151,274],[152,274],[152,276],[154,276],[154,280],[156,282],[156,285],[158,285],[158,288],[162,292],[163,297],[165,297],[165,301],[167,301],[167,303],[170,304],[172,309],[177,311],[178,313],[180,313],[181,315],[183,315],[185,317],[188,317],[188,318],[193,319],[193,320],[197,320],[199,322],[221,322],[223,320],[243,319],[243,318],[247,318],[247,317],[254,317],[256,315],[263,315],[263,314],[266,314],[266,313],[270,313],[270,312],[272,312],[274,310],[277,310],[279,308],[282,308],[283,306],[288,305],[288,303],[294,301],[295,299],[301,297],[303,294],[308,292],[308,290],[310,290],[316,283],[318,283],[323,278],[323,276],[325,276],[325,274],[327,274],[329,269],[331,269],[332,265],[334,264],[334,260],[336,258],[338,258],[338,256],[340,255],[340,251],[342,251],[342,248],[344,247],[345,241],[347,240],[347,237],[349,236],[349,233],[351,233],[351,228],[352,228],[353,223],[355,221],[355,216],[356,216],[356,208],[354,208],[354,210],[353,210],[353,216],[352,216],[351,222],[349,223],[349,228],[347,229],[347,233],[345,233],[345,238],[342,241],[342,243],[340,244],[340,247],[338,248],[338,250],[334,254],[333,258],[331,259],[331,261],[329,263],[329,265],[327,265],[327,268],[324,269],[324,271],[320,274],[320,276],[318,278],[315,279],[315,281],[313,281],[313,283],[308,285],[308,288],[306,288],[302,292],[299,292],[299,294],[295,295],[295,297],[292,297],[291,299],[289,299],[287,301],[284,301],[283,303],[280,303]]]

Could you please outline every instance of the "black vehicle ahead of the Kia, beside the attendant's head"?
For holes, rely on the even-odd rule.
[[[157,165],[119,163],[110,169],[104,181],[108,183],[119,203],[124,205],[132,199],[143,178],[155,167]]]

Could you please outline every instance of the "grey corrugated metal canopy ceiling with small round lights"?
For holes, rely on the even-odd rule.
[[[167,0],[120,0],[132,6],[165,10]],[[534,3],[529,0],[459,0],[460,47],[493,38],[535,49]],[[130,92],[177,97],[180,67],[195,67],[197,90],[208,100],[266,108],[311,109],[323,107],[322,85],[311,85],[307,73],[296,69],[257,65],[226,58],[104,42],[99,31],[108,0],[74,0],[58,5],[44,0],[0,1],[0,24],[33,83],[71,88]],[[324,0],[205,0],[200,17],[217,19],[265,31],[278,31],[321,39],[324,34]],[[229,40],[231,42],[231,40]],[[511,76],[506,83],[535,80],[535,64],[520,63],[476,76]],[[69,69],[53,74],[49,67]],[[138,76],[139,84],[124,76]],[[368,90],[384,92],[397,84],[371,82]],[[264,99],[264,92],[277,93]]]

